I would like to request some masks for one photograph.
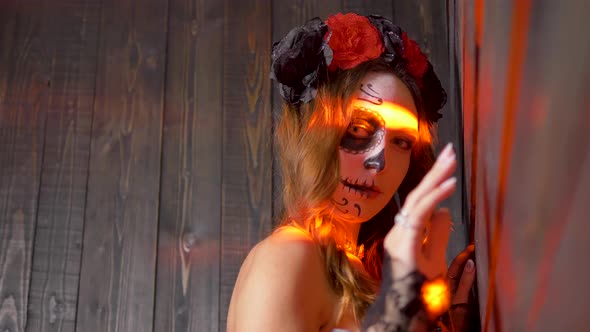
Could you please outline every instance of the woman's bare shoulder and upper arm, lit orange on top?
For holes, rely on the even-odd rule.
[[[317,331],[330,303],[319,247],[301,230],[283,227],[244,261],[232,295],[228,331],[285,331],[287,326]]]

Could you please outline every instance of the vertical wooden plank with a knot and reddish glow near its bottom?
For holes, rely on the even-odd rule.
[[[170,1],[155,331],[219,330],[223,15]]]

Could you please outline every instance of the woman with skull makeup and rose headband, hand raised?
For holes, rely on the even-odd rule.
[[[228,331],[434,326],[448,297],[422,293],[447,275],[451,222],[436,206],[456,161],[447,146],[434,163],[446,94],[431,64],[390,21],[356,14],[291,30],[272,59],[286,217],[244,261]],[[467,300],[464,277],[453,303]]]

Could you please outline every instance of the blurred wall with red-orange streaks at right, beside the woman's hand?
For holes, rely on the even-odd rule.
[[[451,11],[482,330],[587,330],[590,3]]]

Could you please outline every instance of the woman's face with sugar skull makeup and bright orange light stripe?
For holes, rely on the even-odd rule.
[[[340,183],[331,200],[337,216],[365,222],[406,176],[418,140],[418,113],[410,90],[389,73],[367,74],[351,107],[339,148]]]

